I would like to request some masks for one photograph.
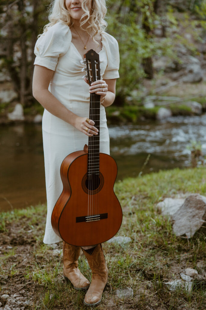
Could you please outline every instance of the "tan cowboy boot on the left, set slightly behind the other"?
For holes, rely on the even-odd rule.
[[[75,290],[85,290],[90,282],[83,276],[78,268],[80,246],[72,246],[63,241],[63,275],[74,286]]]

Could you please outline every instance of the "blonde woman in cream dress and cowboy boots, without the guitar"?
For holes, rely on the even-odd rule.
[[[51,226],[53,207],[63,185],[60,166],[70,153],[82,150],[88,136],[98,135],[88,119],[90,93],[100,95],[100,152],[109,154],[109,136],[104,107],[115,99],[119,77],[117,41],[104,32],[105,0],[54,0],[50,23],[35,46],[33,95],[45,108],[42,130],[47,191],[47,221],[44,243],[61,241]],[[101,61],[101,80],[89,86],[82,79],[84,54],[94,49]],[[107,284],[107,267],[101,244],[82,248],[90,268],[90,282],[78,269],[80,247],[63,242],[64,276],[74,288],[87,289],[84,303],[101,301]]]

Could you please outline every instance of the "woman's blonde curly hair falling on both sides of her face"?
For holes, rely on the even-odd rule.
[[[91,33],[91,30],[94,30],[95,34],[102,33],[107,27],[107,22],[104,20],[107,13],[106,0],[82,0],[82,10],[84,14],[80,19],[80,27],[86,30],[88,34]],[[90,11],[92,12],[91,15]],[[51,2],[48,20],[49,23],[44,26],[44,32],[48,30],[48,27],[59,21],[69,27],[73,25],[74,20],[66,9],[65,0],[53,0]],[[86,24],[88,26],[85,28]]]

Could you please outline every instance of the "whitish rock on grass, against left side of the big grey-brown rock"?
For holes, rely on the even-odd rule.
[[[173,215],[183,205],[184,201],[183,198],[165,198],[164,201],[157,204],[157,208],[162,210],[163,215]]]

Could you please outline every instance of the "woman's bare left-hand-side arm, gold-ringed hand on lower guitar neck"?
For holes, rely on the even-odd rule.
[[[57,98],[48,90],[49,83],[54,71],[46,67],[35,65],[33,75],[33,96],[50,113],[61,118],[63,121],[77,128],[85,135],[97,135],[98,129],[94,127],[95,122],[86,122],[86,117],[79,117],[69,111]],[[88,133],[85,131],[89,128]]]

